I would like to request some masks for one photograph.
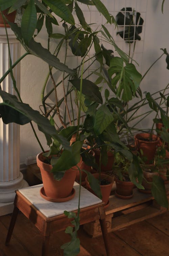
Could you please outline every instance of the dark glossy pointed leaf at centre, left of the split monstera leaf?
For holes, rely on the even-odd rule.
[[[78,91],[80,91],[80,79],[73,79],[70,80],[70,82]],[[92,101],[100,104],[103,103],[99,87],[88,79],[82,79],[82,94]]]

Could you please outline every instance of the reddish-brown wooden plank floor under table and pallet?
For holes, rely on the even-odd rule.
[[[19,213],[8,247],[4,245],[10,215],[0,217],[0,256],[40,256],[42,239],[39,231]],[[79,230],[81,248],[79,256],[105,256],[102,237],[90,238]],[[109,233],[112,256],[169,256],[169,212]],[[50,240],[49,256],[63,255],[60,246],[69,241],[64,232],[54,234]]]

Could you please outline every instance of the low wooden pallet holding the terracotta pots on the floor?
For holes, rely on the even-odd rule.
[[[166,184],[169,198],[169,184]],[[151,194],[143,194],[134,189],[134,196],[130,199],[120,199],[115,195],[109,197],[109,206],[105,209],[108,232],[123,229],[131,224],[165,213],[166,208],[156,203]],[[99,221],[83,225],[83,229],[91,236],[101,235]]]

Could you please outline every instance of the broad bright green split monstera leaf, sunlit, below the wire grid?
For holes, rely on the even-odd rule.
[[[123,101],[129,101],[135,95],[137,88],[141,82],[141,74],[136,70],[132,63],[124,62],[119,57],[114,57],[110,60],[110,68],[108,75],[112,78],[112,85],[117,87],[117,96]],[[118,84],[119,83],[119,84]],[[118,84],[118,85],[117,85]]]

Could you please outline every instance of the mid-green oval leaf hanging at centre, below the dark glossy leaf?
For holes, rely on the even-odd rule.
[[[101,134],[107,126],[113,121],[113,113],[110,112],[107,106],[102,105],[96,111],[95,122],[94,122],[94,132],[96,135]]]

